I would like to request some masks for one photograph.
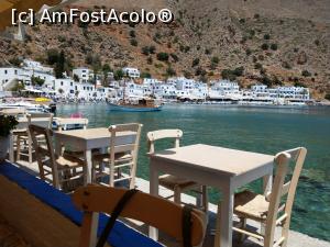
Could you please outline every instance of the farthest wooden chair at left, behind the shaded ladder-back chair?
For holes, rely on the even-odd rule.
[[[44,126],[47,128],[52,127],[53,122],[53,114],[52,113],[32,113],[28,114],[28,126],[30,124],[35,124],[38,126]],[[44,121],[43,119],[46,119]],[[38,121],[43,120],[43,121]],[[29,164],[32,164],[32,155],[34,153],[32,148],[32,138],[29,133],[29,128],[21,128],[13,131],[13,134],[16,136],[16,160],[21,159],[21,156],[28,156],[29,157]],[[38,138],[38,137],[37,137]],[[28,154],[25,154],[22,150],[28,150]]]

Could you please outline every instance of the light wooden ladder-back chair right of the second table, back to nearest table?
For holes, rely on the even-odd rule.
[[[129,188],[135,187],[135,175],[138,165],[138,154],[142,124],[118,124],[111,125],[110,149],[107,154],[92,155],[92,181],[96,182],[102,177],[109,178],[109,186],[114,187],[116,182],[129,181]],[[136,135],[128,144],[116,143],[116,138],[122,132],[134,132]],[[123,173],[122,170],[128,173]]]

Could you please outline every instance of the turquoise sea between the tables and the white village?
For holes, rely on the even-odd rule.
[[[182,145],[204,143],[272,155],[305,146],[308,154],[298,184],[292,228],[330,240],[330,108],[173,104],[165,105],[161,112],[124,113],[110,112],[107,104],[57,106],[61,116],[82,113],[89,119],[89,127],[143,123],[138,176],[145,179],[148,179],[145,134],[158,128],[182,128]],[[261,181],[249,187],[260,191]],[[211,188],[209,193],[211,202],[216,203],[220,194]]]

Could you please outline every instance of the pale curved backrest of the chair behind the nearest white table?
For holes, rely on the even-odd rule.
[[[155,151],[155,142],[158,139],[174,138],[174,147],[179,147],[180,138],[183,137],[182,130],[160,130],[154,132],[148,132],[146,134],[148,151],[152,154]]]

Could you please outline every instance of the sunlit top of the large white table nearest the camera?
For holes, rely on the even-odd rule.
[[[237,150],[204,144],[172,148],[150,155],[156,160],[166,160],[187,167],[238,176],[273,162],[274,156]]]

